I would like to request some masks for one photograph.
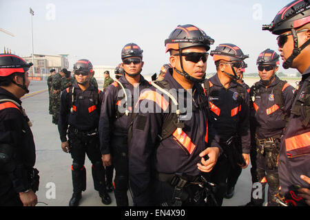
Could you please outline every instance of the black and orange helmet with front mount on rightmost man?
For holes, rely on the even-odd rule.
[[[309,0],[295,0],[278,12],[270,25],[262,25],[262,30],[269,30],[272,34],[282,34],[292,28],[299,28],[310,22]]]

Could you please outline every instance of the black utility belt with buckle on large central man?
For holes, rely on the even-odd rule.
[[[208,197],[211,197],[216,203],[214,194],[217,186],[207,181],[203,175],[191,176],[182,173],[157,173],[156,179],[158,181],[165,181],[174,187],[172,199],[161,203],[161,206],[182,206],[184,201],[199,203],[205,201]],[[187,188],[193,187],[195,188],[194,190],[187,190]]]

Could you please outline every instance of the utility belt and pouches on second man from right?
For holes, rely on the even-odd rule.
[[[259,139],[256,135],[256,151],[265,157],[269,169],[278,168],[281,135]]]

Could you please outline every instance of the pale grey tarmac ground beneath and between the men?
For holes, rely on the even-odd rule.
[[[98,82],[99,88],[103,82]],[[247,81],[246,81],[247,83]],[[249,83],[251,85],[252,83]],[[291,84],[292,85],[292,84]],[[36,164],[39,170],[40,186],[37,192],[37,206],[68,206],[72,197],[72,158],[69,153],[61,150],[61,140],[57,126],[52,124],[52,115],[48,113],[48,85],[46,81],[31,81],[30,94],[21,98],[33,126],[31,127],[36,145]],[[101,202],[99,193],[94,190],[90,160],[86,157],[87,189],[82,194],[80,206],[106,206]],[[251,164],[242,170],[235,187],[234,197],[224,199],[223,206],[242,206],[250,200]],[[267,191],[267,190],[266,190]],[[114,192],[110,192],[112,203],[116,206]],[[130,206],[132,197],[128,191]]]

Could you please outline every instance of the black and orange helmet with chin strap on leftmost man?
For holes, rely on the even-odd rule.
[[[22,74],[23,85],[19,85],[14,80],[12,83],[21,87],[26,93],[29,90],[25,86],[25,72],[32,66],[32,63],[26,63],[23,58],[14,54],[0,54],[0,77],[10,76],[11,74]]]

